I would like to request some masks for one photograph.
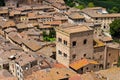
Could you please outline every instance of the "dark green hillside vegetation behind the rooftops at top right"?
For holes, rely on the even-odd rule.
[[[85,7],[101,6],[111,13],[120,12],[120,0],[65,0],[70,7],[83,9]]]

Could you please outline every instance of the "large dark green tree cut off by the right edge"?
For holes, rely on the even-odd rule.
[[[110,24],[110,34],[115,41],[120,42],[120,19],[116,19]]]

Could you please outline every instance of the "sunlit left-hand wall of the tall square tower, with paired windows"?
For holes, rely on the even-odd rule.
[[[62,32],[56,32],[56,39],[57,39],[57,44],[56,44],[56,58],[58,62],[69,66],[70,64],[70,37],[66,33]],[[58,40],[58,39],[61,39]],[[67,41],[67,46],[64,45],[63,40]],[[63,54],[64,53],[64,54]],[[67,57],[65,57],[65,54]]]

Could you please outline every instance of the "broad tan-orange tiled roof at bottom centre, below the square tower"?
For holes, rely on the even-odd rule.
[[[52,68],[34,72],[26,77],[25,80],[40,79],[40,80],[60,80],[75,76],[77,73],[67,68]]]

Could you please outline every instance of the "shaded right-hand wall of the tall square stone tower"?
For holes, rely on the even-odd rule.
[[[76,46],[73,46],[76,42]],[[93,31],[85,31],[80,33],[71,34],[71,60],[76,61],[83,58],[92,59],[93,56]],[[76,55],[74,58],[73,56]]]

